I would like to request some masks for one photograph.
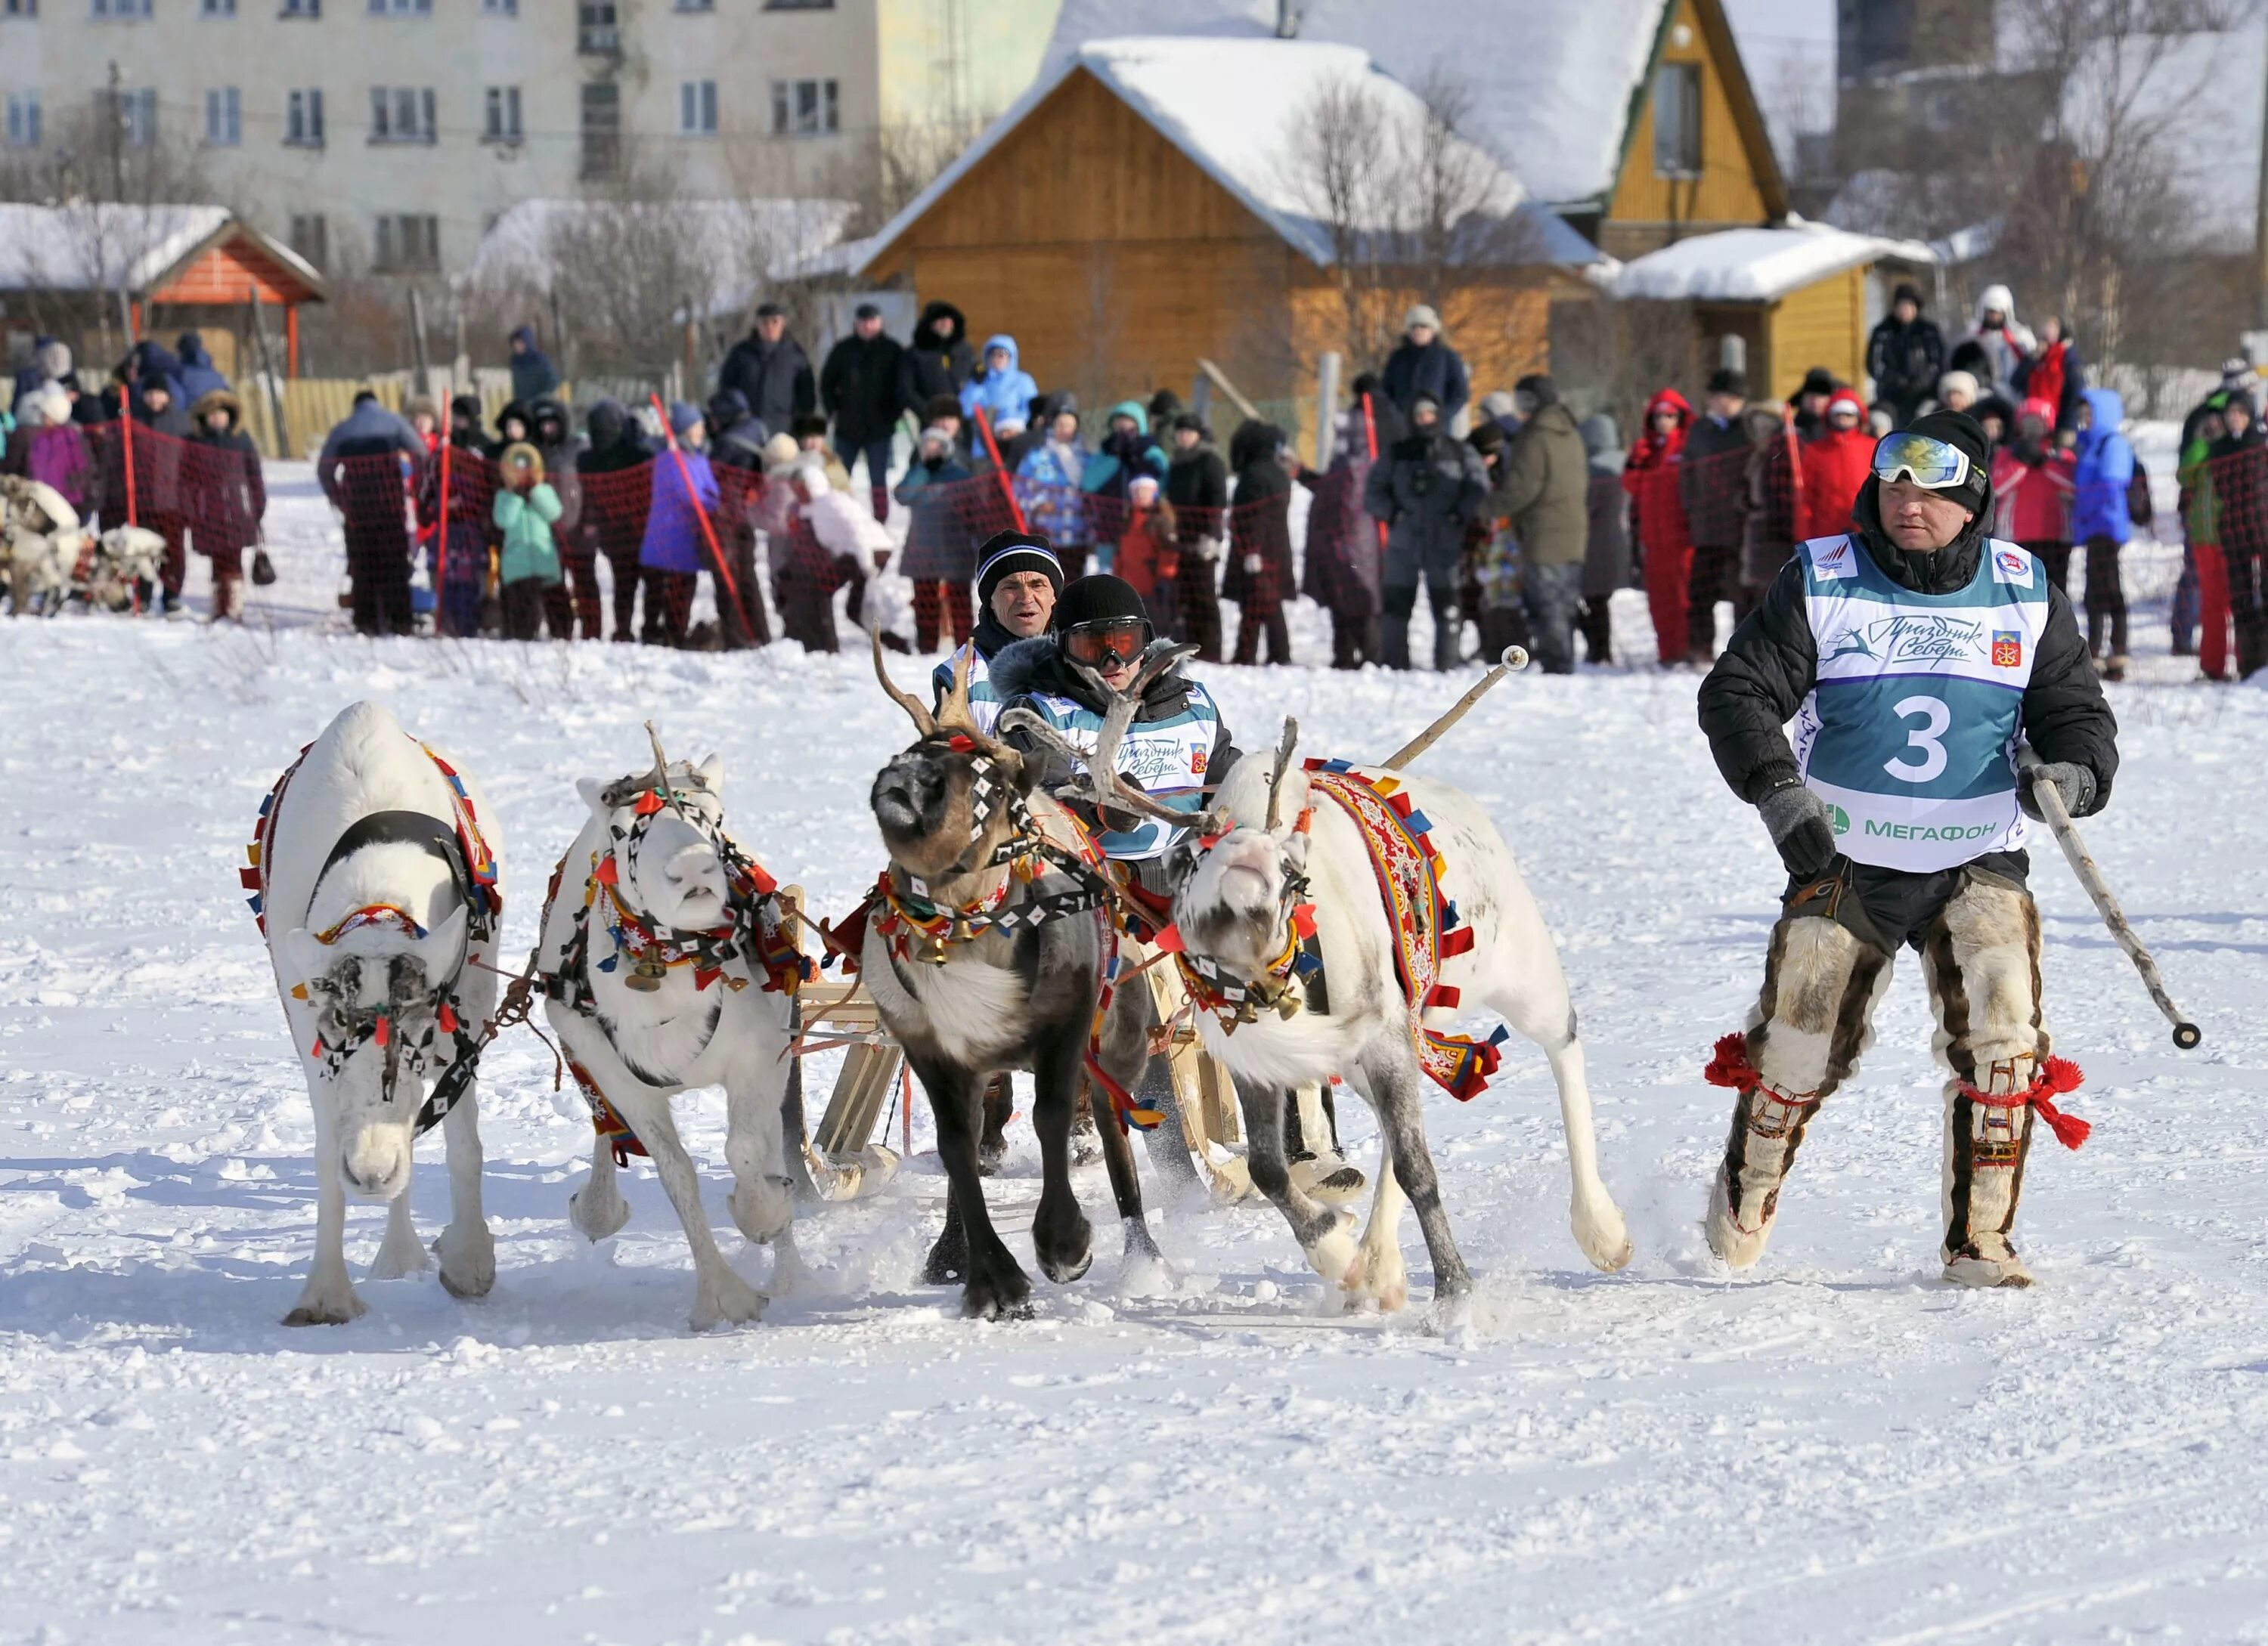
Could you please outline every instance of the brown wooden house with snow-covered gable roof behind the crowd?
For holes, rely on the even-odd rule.
[[[1179,390],[1204,358],[1286,426],[1318,356],[1349,349],[1352,306],[1399,320],[1436,302],[1479,385],[1542,370],[1554,286],[1599,254],[1461,147],[1486,188],[1456,240],[1467,249],[1447,254],[1456,290],[1399,265],[1354,290],[1334,247],[1377,247],[1363,236],[1393,227],[1318,211],[1293,152],[1302,111],[1331,86],[1361,88],[1388,125],[1424,120],[1417,95],[1349,45],[1089,41],[885,224],[853,274],[950,299],[975,342],[1012,333],[1041,388]]]

